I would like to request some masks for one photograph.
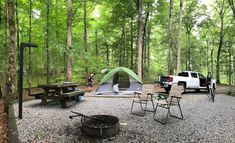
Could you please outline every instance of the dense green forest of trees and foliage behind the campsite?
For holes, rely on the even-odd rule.
[[[144,82],[183,70],[235,83],[233,0],[1,0],[0,77],[14,94],[21,42],[24,87],[86,84],[123,66]]]

